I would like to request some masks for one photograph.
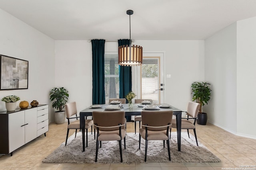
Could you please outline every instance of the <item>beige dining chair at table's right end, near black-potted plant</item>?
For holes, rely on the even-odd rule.
[[[189,137],[188,129],[193,129],[197,146],[198,146],[198,142],[197,142],[197,137],[196,137],[196,118],[198,115],[199,106],[200,106],[199,103],[188,102],[187,111],[184,111],[184,112],[186,112],[187,117],[181,118],[181,129],[187,129],[188,137]],[[191,119],[194,121],[190,121]],[[177,128],[176,118],[172,120],[172,127]],[[171,132],[171,130],[170,130],[170,132]]]

